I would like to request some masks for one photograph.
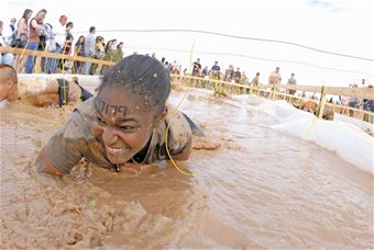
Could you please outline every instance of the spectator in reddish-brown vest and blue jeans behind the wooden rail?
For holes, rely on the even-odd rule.
[[[38,44],[41,42],[40,35],[42,33],[46,33],[45,27],[43,26],[43,21],[46,15],[46,10],[42,9],[40,10],[35,18],[33,18],[30,21],[30,37],[29,37],[29,43],[26,48],[31,50],[36,50],[38,47]],[[32,73],[34,69],[34,56],[29,56],[26,59],[26,65],[25,65],[25,73]]]

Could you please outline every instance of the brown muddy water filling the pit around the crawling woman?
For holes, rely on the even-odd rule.
[[[195,177],[165,162],[140,175],[81,162],[59,179],[32,163],[72,110],[3,109],[1,247],[374,247],[372,175],[234,101],[191,91],[182,110],[207,134],[178,163]]]

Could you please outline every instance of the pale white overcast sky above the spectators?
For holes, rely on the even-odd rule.
[[[280,67],[282,82],[295,72],[298,84],[374,84],[374,3],[372,0],[0,0],[0,20],[19,19],[24,9],[46,9],[46,23],[62,14],[74,23],[74,36],[96,26],[106,41],[124,43],[124,53],[156,53],[189,69],[200,58],[209,68],[233,65],[252,79],[267,82]],[[117,32],[109,32],[109,31]],[[289,44],[239,39],[193,32],[119,32],[118,30],[199,30],[234,36],[284,41],[365,59],[336,56]]]

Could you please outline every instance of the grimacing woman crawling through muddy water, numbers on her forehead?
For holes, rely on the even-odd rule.
[[[128,162],[175,160],[191,152],[194,124],[183,113],[168,112],[170,79],[163,65],[148,56],[132,55],[106,71],[98,94],[81,103],[38,155],[38,172],[63,175],[81,158],[108,169]],[[172,115],[172,116],[170,116]]]

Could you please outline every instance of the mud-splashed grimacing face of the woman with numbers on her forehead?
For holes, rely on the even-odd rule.
[[[150,140],[157,122],[155,111],[145,109],[146,99],[124,88],[103,88],[97,96],[97,124],[102,133],[107,157],[123,163]]]

